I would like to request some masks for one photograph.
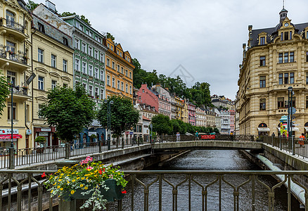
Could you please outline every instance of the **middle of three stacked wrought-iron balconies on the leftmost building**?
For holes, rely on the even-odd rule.
[[[5,48],[6,46],[4,46]],[[27,65],[28,58],[24,56],[22,53],[13,53],[12,51],[4,51],[0,50],[0,66],[8,65],[12,68],[17,68],[24,72],[30,66]]]

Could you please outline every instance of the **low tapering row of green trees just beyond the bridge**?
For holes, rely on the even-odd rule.
[[[165,115],[156,115],[152,118],[153,132],[157,132],[159,135],[162,134],[195,134],[196,131],[202,133],[219,133],[219,130],[215,127],[197,127],[192,124],[183,122],[181,120],[170,120],[168,116]]]

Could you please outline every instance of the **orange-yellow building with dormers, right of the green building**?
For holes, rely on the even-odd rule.
[[[105,89],[106,98],[120,94],[133,99],[133,70],[129,51],[123,51],[121,44],[115,44],[112,39],[105,39],[108,48],[105,56]]]

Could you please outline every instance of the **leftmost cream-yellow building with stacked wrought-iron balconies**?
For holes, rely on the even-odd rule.
[[[11,145],[11,118],[13,118],[13,143],[15,148],[30,146],[32,139],[31,91],[25,83],[31,75],[31,15],[24,1],[0,1],[0,67],[1,74],[13,83],[11,94],[0,119],[0,147]],[[2,18],[3,17],[3,18]],[[31,84],[30,84],[31,85]],[[13,117],[11,116],[13,110]]]

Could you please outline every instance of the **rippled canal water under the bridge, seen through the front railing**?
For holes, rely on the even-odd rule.
[[[245,159],[238,151],[233,150],[200,150],[191,151],[184,155],[175,158],[172,161],[166,162],[162,166],[152,166],[147,170],[260,170],[257,165]],[[184,175],[174,177],[167,175],[166,179],[172,184],[179,184],[185,179]],[[139,177],[144,184],[150,184],[156,178],[155,175]],[[200,184],[209,184],[216,178],[214,175],[194,178]],[[229,183],[239,185],[243,181],[248,180],[245,175],[226,175],[225,179]],[[276,179],[272,177],[260,176],[259,180],[264,184],[274,186],[277,184]],[[123,199],[123,210],[131,210],[131,190],[130,184],[127,186],[127,196]],[[188,182],[179,186],[178,192],[178,210],[188,210]],[[191,188],[191,210],[202,210],[202,189],[197,185]],[[252,210],[251,199],[251,184],[244,185],[240,188],[239,210]],[[268,195],[267,189],[264,186],[256,184],[255,186],[255,210],[268,210]],[[275,210],[288,210],[288,196],[285,186],[276,188],[275,191]],[[295,198],[292,198],[292,210],[300,209],[300,203]],[[134,192],[134,210],[143,210],[143,186],[135,184]],[[149,210],[158,210],[158,183],[151,185],[149,188]],[[172,210],[172,188],[167,183],[162,185],[162,210]],[[207,210],[219,210],[219,184],[216,183],[210,186],[207,196]],[[233,189],[226,184],[222,184],[222,210],[233,210]]]

